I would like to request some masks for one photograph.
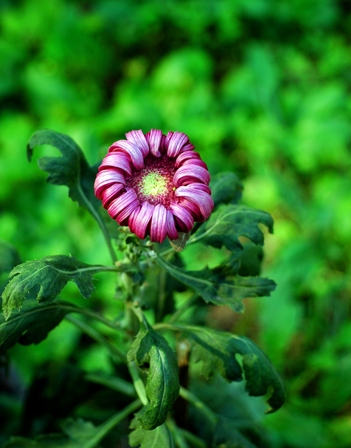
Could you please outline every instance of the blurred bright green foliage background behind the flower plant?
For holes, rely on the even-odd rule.
[[[212,174],[237,172],[243,203],[274,217],[262,275],[277,290],[225,310],[285,378],[287,403],[257,422],[274,448],[351,446],[350,30],[348,0],[0,1],[0,238],[22,261],[109,263],[92,218],[28,163],[32,132],[69,134],[91,164],[133,129],[188,134]],[[98,286],[91,301],[111,295],[112,274]],[[77,338],[62,323],[15,347],[19,376],[72,358]],[[79,363],[109,369],[97,346]]]

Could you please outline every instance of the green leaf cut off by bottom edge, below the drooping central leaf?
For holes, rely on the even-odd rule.
[[[139,414],[139,413],[138,413]],[[136,415],[138,415],[136,414]],[[139,448],[173,448],[174,442],[170,430],[165,423],[158,426],[152,431],[146,431],[143,429],[137,418],[133,418],[130,423],[130,428],[133,431],[129,434],[129,445],[131,447]]]

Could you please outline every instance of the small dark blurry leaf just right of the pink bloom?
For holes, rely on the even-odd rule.
[[[220,204],[237,203],[241,198],[243,184],[237,174],[222,172],[212,176],[210,181],[214,207]]]

